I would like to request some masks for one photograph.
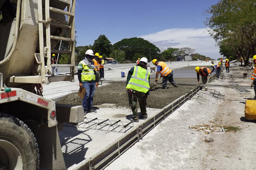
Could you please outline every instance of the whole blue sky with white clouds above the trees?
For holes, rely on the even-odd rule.
[[[111,44],[142,37],[161,52],[168,47],[195,49],[212,59],[221,57],[204,24],[215,0],[76,0],[77,46],[93,45],[105,35]]]

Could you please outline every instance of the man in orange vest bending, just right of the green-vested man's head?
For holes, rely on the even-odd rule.
[[[173,71],[166,65],[163,61],[157,61],[157,59],[154,59],[153,64],[156,67],[156,79],[155,81],[158,81],[159,73],[161,77],[163,77],[162,81],[162,87],[163,89],[167,89],[167,81],[169,81],[174,87],[178,87],[178,85],[175,83],[173,79]]]

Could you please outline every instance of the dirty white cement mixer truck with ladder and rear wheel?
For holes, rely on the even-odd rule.
[[[74,81],[75,3],[0,1],[0,169],[66,169],[58,126],[83,121],[83,110],[43,97],[42,84]],[[59,41],[69,49],[54,49]],[[70,63],[51,64],[53,53]],[[70,73],[51,76],[52,67]]]

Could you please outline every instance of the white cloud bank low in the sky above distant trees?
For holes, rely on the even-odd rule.
[[[215,40],[210,37],[206,28],[173,28],[139,37],[154,43],[161,51],[168,47],[189,47],[196,49],[196,53],[212,59],[221,57]]]

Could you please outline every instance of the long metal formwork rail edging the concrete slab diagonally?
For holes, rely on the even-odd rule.
[[[136,142],[139,142],[139,140],[141,140],[144,135],[149,133],[150,130],[154,129],[156,125],[161,123],[166,117],[172,114],[182,104],[184,104],[187,100],[196,95],[196,93],[200,89],[200,87],[195,87],[190,92],[177,98],[172,103],[168,104],[166,107],[157,112],[154,116],[149,117],[147,121],[127,131],[125,136],[122,136],[118,140],[115,140],[113,143],[109,144],[108,147],[101,150],[89,160],[81,162],[80,165],[78,165],[75,169],[97,170],[106,168],[111,162],[117,159],[127,149],[132,147]]]

